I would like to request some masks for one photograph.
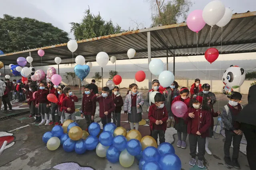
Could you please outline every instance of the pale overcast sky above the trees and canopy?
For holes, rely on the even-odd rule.
[[[256,0],[222,0],[233,13],[256,11]],[[190,11],[203,9],[210,0],[192,0]],[[147,0],[1,0],[0,17],[3,14],[35,18],[50,22],[70,32],[69,22],[80,22],[83,12],[90,6],[93,14],[100,12],[105,20],[112,20],[121,28],[136,28],[132,22],[141,23],[141,28],[151,25],[151,10]],[[182,21],[181,21],[182,22]],[[70,34],[70,38],[74,38]]]

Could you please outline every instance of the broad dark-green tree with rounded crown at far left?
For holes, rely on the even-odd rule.
[[[7,14],[0,18],[0,49],[4,53],[66,43],[68,35],[50,23],[32,18]]]

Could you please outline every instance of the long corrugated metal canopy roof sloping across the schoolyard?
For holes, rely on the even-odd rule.
[[[114,55],[117,59],[128,59],[129,48],[136,50],[133,59],[147,58],[147,32],[151,32],[151,57],[165,57],[167,49],[169,57],[197,54],[196,33],[189,30],[183,22],[77,41],[78,49],[74,58],[83,55],[86,62],[96,61],[97,53],[105,51],[109,57]],[[213,26],[211,32],[211,27],[206,24],[198,33],[200,55],[209,48],[210,34],[210,47],[216,47],[220,51],[222,43],[222,54],[256,52],[256,12],[234,14],[223,30]],[[0,55],[0,61],[4,65],[15,64],[18,57],[27,57],[31,52],[34,59],[32,65],[40,66],[38,49],[44,49],[45,52],[42,65],[55,64],[55,57],[62,59],[61,64],[72,63],[72,53],[67,48],[67,43]]]

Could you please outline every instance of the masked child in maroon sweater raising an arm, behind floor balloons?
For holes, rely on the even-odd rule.
[[[111,113],[115,110],[115,103],[109,96],[109,87],[103,87],[101,95],[94,95],[92,101],[99,102],[99,117],[104,128],[107,123],[111,123]]]

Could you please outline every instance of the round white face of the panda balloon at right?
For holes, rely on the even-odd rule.
[[[228,69],[226,69],[222,76],[224,85],[232,89],[240,87],[244,83],[244,79],[244,69],[236,65],[231,65]]]

